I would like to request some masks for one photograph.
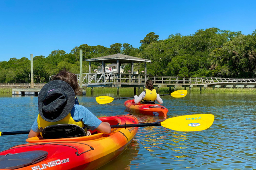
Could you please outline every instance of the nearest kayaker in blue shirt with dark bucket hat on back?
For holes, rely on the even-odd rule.
[[[39,114],[31,127],[28,137],[38,136],[42,139],[45,127],[58,124],[74,124],[86,128],[110,133],[108,122],[102,122],[82,105],[76,104],[75,94],[80,93],[76,75],[61,71],[53,80],[43,86],[38,95]],[[61,132],[59,132],[61,133]]]

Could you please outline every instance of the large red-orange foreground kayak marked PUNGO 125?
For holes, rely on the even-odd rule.
[[[129,114],[99,119],[110,125],[138,123],[137,118]],[[0,169],[97,169],[118,157],[137,131],[138,127],[126,127],[114,128],[110,134],[94,130],[91,136],[83,137],[45,140],[28,138],[28,143],[0,152]]]

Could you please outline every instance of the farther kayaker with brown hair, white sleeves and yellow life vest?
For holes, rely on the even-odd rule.
[[[139,97],[137,95],[134,96],[134,103],[154,103],[155,101],[160,104],[163,103],[159,94],[156,93],[156,89],[154,89],[153,82],[147,80],[146,89],[139,95]]]

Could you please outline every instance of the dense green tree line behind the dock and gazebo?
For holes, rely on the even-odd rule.
[[[34,82],[45,83],[51,75],[61,70],[79,73],[79,50],[83,50],[83,72],[89,71],[85,59],[121,53],[151,60],[147,64],[147,74],[153,76],[179,77],[256,77],[256,30],[250,35],[241,31],[233,32],[208,28],[194,34],[170,35],[165,40],[150,32],[140,40],[141,46],[134,48],[128,43],[115,43],[110,47],[82,44],[70,53],[54,50],[49,56],[34,57]],[[92,63],[92,70],[100,63]],[[131,65],[125,65],[128,73]],[[144,63],[135,63],[134,70],[141,73]],[[0,82],[30,82],[30,60],[11,58],[0,62]]]

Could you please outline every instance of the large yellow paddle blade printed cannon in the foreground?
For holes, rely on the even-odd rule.
[[[212,114],[196,114],[169,118],[161,122],[161,125],[175,131],[201,131],[209,128],[213,121]]]

